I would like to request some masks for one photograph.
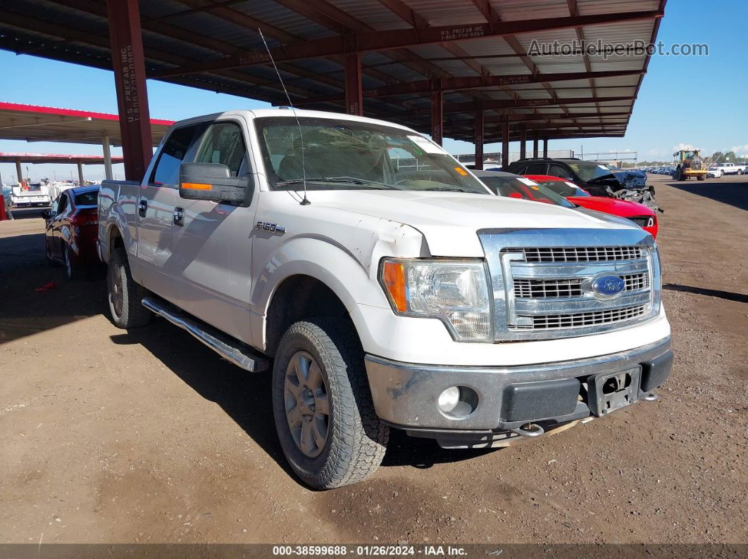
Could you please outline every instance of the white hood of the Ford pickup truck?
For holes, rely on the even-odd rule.
[[[482,257],[479,229],[637,229],[565,207],[491,194],[315,190],[309,199],[312,204],[409,225],[426,237],[434,256]]]

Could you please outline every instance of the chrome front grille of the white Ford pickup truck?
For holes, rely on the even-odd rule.
[[[478,234],[491,273],[494,342],[601,334],[631,328],[660,311],[657,246],[640,228]],[[616,296],[596,288],[598,278],[611,275],[624,284]]]

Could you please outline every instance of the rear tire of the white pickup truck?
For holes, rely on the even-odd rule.
[[[113,282],[117,279],[122,290],[122,304],[119,312],[117,312],[117,305],[114,304],[112,293]],[[149,294],[148,290],[136,284],[132,279],[130,264],[124,249],[114,249],[111,252],[106,272],[106,285],[106,299],[109,303],[111,322],[114,322],[117,328],[137,328],[150,322],[153,314],[141,303],[143,298]]]

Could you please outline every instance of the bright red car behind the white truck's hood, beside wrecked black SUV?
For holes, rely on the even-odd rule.
[[[652,208],[646,207],[644,204],[637,204],[637,202],[628,202],[628,200],[619,200],[617,198],[605,198],[604,196],[589,196],[586,190],[582,190],[576,184],[551,175],[524,176],[543,187],[553,190],[554,193],[560,194],[572,204],[586,207],[588,210],[601,211],[603,213],[610,213],[613,216],[631,219],[640,228],[643,228],[644,231],[651,233],[652,237],[657,238],[657,213],[654,213]]]

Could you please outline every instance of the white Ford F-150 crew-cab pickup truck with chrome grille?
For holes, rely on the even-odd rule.
[[[373,119],[177,122],[141,182],[102,183],[98,248],[117,326],[156,313],[272,369],[268,420],[316,488],[371,475],[390,428],[506,446],[654,400],[672,364],[650,234],[494,196]]]

